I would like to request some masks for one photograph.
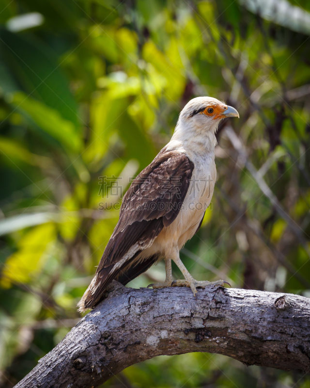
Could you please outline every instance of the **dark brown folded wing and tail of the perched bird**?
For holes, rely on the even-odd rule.
[[[194,163],[184,153],[171,151],[157,155],[134,179],[124,195],[120,219],[87,290],[89,292],[82,298],[86,308],[100,301],[108,284],[120,273],[124,278],[124,270],[128,270],[140,252],[153,243],[164,226],[175,220],[193,169]],[[149,261],[146,269],[154,262]],[[134,278],[132,271],[128,277]]]

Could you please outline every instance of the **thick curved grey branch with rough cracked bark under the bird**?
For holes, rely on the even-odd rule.
[[[209,288],[129,289],[109,297],[16,388],[97,387],[159,355],[220,353],[247,365],[310,370],[310,300],[293,294]]]

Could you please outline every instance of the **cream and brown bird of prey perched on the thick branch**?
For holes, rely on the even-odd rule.
[[[197,298],[197,288],[227,283],[195,280],[180,259],[180,249],[200,229],[212,199],[216,131],[225,117],[239,118],[239,113],[213,97],[195,97],[183,108],[170,142],[124,194],[119,221],[78,303],[80,312],[103,300],[112,280],[125,285],[160,259],[166,279],[151,284],[153,289],[190,287]],[[171,260],[184,279],[173,281]]]

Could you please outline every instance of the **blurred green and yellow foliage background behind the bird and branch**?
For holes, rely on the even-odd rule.
[[[78,321],[118,219],[113,190],[124,194],[192,97],[223,99],[240,119],[218,130],[212,210],[184,263],[197,279],[310,296],[309,11],[309,0],[0,1],[1,387]],[[154,279],[162,263],[130,285]],[[156,357],[105,384],[124,386],[310,379],[197,353]]]

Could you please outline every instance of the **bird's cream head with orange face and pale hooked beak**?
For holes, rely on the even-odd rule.
[[[198,132],[217,129],[225,117],[239,117],[239,113],[229,105],[213,97],[191,99],[180,113],[180,121]]]

